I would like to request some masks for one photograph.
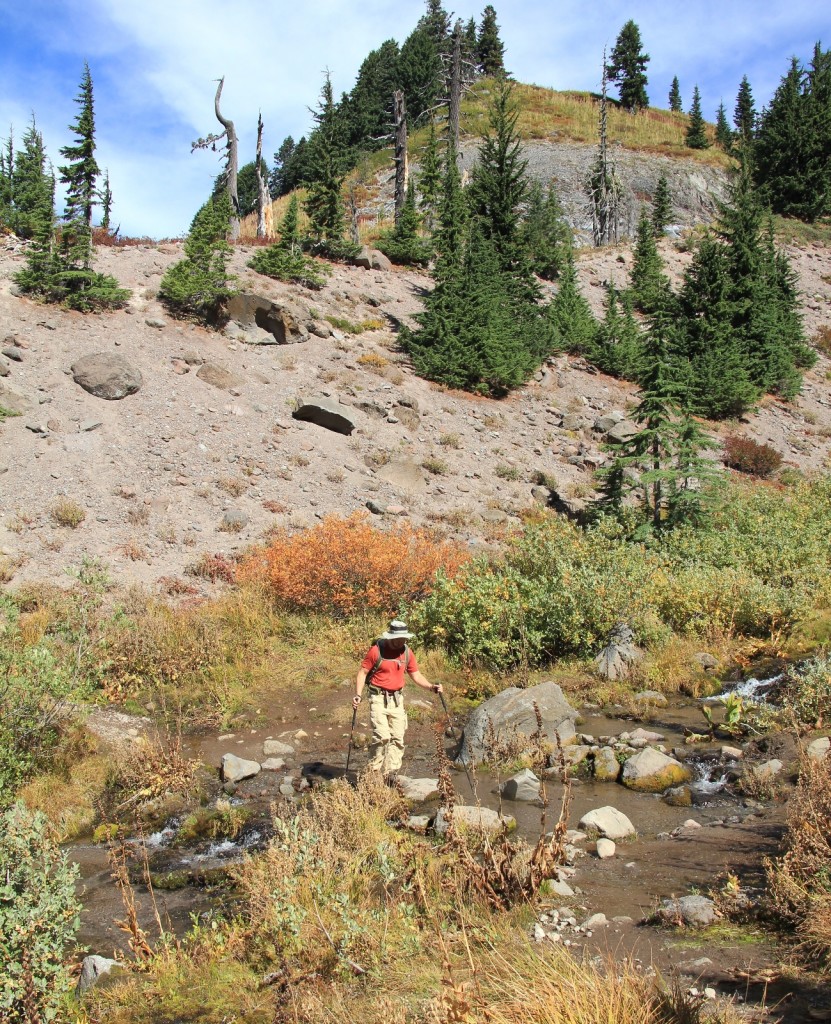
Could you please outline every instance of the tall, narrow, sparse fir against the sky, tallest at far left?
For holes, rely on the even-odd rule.
[[[70,125],[75,143],[63,146],[60,156],[69,163],[58,168],[60,180],[67,185],[65,227],[61,247],[68,270],[89,270],[92,263],[92,208],[97,200],[96,181],[100,169],[95,160],[95,114],[92,99],[92,78],[89,65],[84,65],[81,91],[76,97],[80,106],[78,118]]]

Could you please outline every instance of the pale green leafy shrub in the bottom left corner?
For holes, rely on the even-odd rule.
[[[23,803],[0,815],[0,1020],[54,1020],[70,981],[63,953],[80,923],[78,865],[45,816]]]

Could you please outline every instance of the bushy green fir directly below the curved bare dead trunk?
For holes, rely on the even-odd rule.
[[[193,218],[184,243],[184,259],[169,267],[159,298],[178,316],[211,323],[231,295],[226,241],[230,219],[226,189],[212,196]]]

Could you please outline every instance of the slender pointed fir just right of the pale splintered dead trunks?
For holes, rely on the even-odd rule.
[[[310,184],[306,213],[309,215],[310,233],[315,242],[338,243],[343,240],[344,233],[341,187],[347,168],[342,125],[333,98],[329,72],[313,117],[315,130],[310,142]]]

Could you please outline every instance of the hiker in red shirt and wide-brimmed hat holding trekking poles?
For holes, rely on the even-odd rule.
[[[369,763],[373,771],[394,778],[404,757],[404,733],[407,716],[404,711],[404,673],[423,689],[441,693],[441,683],[429,682],[421,672],[416,655],[406,644],[413,634],[406,624],[397,618],[390,623],[386,633],[366,652],[355,680],[352,707],[357,711],[362,699],[363,687],[369,690],[369,721],[373,725],[373,742]]]

